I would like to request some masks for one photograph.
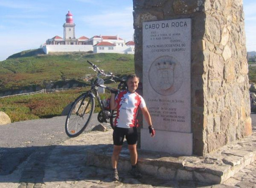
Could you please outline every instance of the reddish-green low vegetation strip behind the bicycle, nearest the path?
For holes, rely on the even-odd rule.
[[[88,89],[85,87],[32,96],[0,98],[0,111],[9,115],[11,122],[59,116],[69,103],[72,103],[82,92]],[[110,93],[106,92],[100,97],[107,99],[110,97]],[[95,112],[99,112],[99,110],[96,102]]]

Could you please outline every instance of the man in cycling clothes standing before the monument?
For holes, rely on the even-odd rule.
[[[138,153],[137,153],[137,111],[140,107],[143,116],[150,130],[151,137],[155,136],[155,130],[152,126],[151,116],[146,108],[144,99],[135,90],[138,88],[139,77],[136,75],[129,75],[126,80],[127,90],[118,92],[115,97],[115,92],[111,93],[110,106],[111,109],[117,110],[117,117],[114,122],[115,130],[113,132],[114,150],[112,154],[112,180],[119,180],[117,172],[117,163],[119,154],[122,149],[124,136],[127,140],[128,149],[130,151],[132,170],[131,174],[135,178],[141,178],[141,173],[136,168]]]

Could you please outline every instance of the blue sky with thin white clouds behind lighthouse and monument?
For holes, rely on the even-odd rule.
[[[247,51],[256,51],[255,10],[255,0],[244,0]],[[68,11],[76,38],[118,34],[126,42],[133,40],[133,0],[0,0],[0,61],[63,37]]]

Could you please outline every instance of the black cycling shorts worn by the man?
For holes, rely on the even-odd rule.
[[[122,146],[124,136],[127,140],[127,144],[129,145],[136,144],[138,140],[137,127],[131,127],[131,128],[115,127],[115,130],[113,132],[114,145]]]

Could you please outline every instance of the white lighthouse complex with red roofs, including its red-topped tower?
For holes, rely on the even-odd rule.
[[[134,54],[135,43],[116,36],[94,36],[87,38],[81,36],[75,37],[75,23],[73,15],[68,12],[66,14],[66,23],[63,24],[63,38],[55,36],[46,41],[42,45],[42,50],[46,54],[49,52],[88,52],[93,53],[120,53],[120,54]]]

